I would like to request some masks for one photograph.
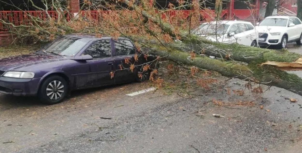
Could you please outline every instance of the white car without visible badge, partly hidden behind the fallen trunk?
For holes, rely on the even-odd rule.
[[[192,33],[215,42],[237,42],[247,46],[258,46],[258,32],[252,23],[246,21],[221,20],[206,22],[192,30]]]

